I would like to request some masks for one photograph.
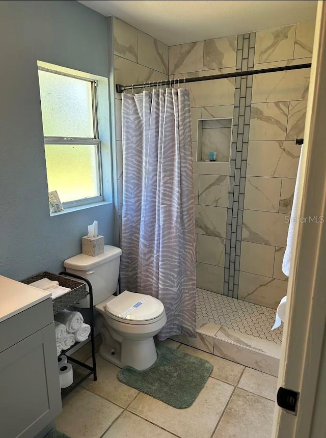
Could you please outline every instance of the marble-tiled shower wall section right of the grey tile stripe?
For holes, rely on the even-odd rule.
[[[314,22],[256,33],[254,69],[311,62]],[[310,69],[253,78],[239,298],[275,307],[286,294],[282,261]]]

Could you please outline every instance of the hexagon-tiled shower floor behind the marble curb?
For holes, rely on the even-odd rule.
[[[197,289],[197,318],[229,329],[280,344],[283,329],[271,331],[276,311],[268,307],[231,298],[209,290]]]

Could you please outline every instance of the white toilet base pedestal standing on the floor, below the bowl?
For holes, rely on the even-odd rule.
[[[104,339],[104,337],[102,336]],[[105,336],[107,339],[107,336]],[[103,341],[99,354],[105,361],[111,362],[120,368],[129,366],[139,371],[151,367],[157,359],[157,352],[153,338],[140,341],[123,339],[120,349]]]

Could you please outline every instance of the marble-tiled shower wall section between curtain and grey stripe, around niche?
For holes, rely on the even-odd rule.
[[[236,48],[237,36],[172,46],[170,77],[233,72]],[[223,293],[230,163],[196,161],[197,120],[232,118],[234,85],[234,79],[187,84],[192,106],[197,286],[219,293]]]

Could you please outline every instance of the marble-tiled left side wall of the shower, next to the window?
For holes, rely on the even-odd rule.
[[[143,84],[169,79],[169,47],[114,18],[114,71],[116,84]],[[135,90],[134,92],[142,92]],[[118,212],[119,235],[121,237],[122,214],[122,125],[121,94],[116,93],[116,151],[118,167]]]

